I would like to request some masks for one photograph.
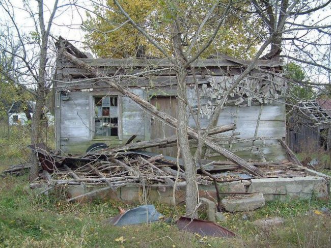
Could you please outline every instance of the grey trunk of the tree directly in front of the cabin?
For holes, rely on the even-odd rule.
[[[186,72],[180,71],[177,74],[178,78],[178,125],[177,125],[177,139],[184,161],[185,167],[185,180],[186,180],[186,215],[190,217],[197,216],[198,206],[198,186],[197,186],[197,164],[193,160],[189,149],[188,136],[187,136],[187,106],[184,99],[186,99]]]

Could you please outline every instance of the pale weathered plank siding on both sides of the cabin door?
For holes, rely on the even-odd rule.
[[[131,91],[144,99],[148,97],[143,89],[131,89]],[[99,90],[98,95],[106,95],[108,92],[109,90]],[[90,145],[96,142],[116,146],[124,144],[132,135],[137,135],[136,140],[146,140],[155,136],[151,137],[151,116],[145,113],[131,99],[122,96],[123,139],[119,140],[117,137],[93,139],[91,136],[91,132],[93,131],[93,126],[91,126],[93,111],[91,110],[90,101],[95,94],[95,91],[70,92],[69,100],[59,100],[57,102],[59,106],[58,111],[60,112],[59,143],[63,152],[71,154],[83,153]],[[188,98],[191,97],[189,98],[190,103],[196,105],[196,99],[193,99],[192,96],[192,94],[188,93]],[[208,100],[204,98],[201,103],[204,104]],[[280,101],[283,101],[283,99],[280,99]],[[174,107],[172,106],[171,108]],[[199,119],[199,121],[202,128],[206,127],[209,123],[206,117]],[[230,149],[245,159],[261,160],[261,152],[266,160],[281,160],[286,158],[285,151],[276,140],[282,139],[285,136],[285,105],[282,102],[274,102],[262,106],[228,106],[219,114],[215,125],[232,123],[235,123],[237,128],[222,135],[231,135],[240,132],[238,137],[240,139],[249,139],[249,141],[240,143],[232,143],[231,141],[220,142],[225,148]],[[196,127],[196,123],[192,117],[189,118],[189,126]],[[258,139],[259,137],[262,137],[263,141],[254,140],[254,138]],[[247,148],[251,146],[255,148]],[[175,151],[174,148],[170,150]],[[174,155],[167,154],[167,149],[159,151],[165,155]],[[219,156],[215,157],[213,156],[213,151],[207,151],[206,158],[219,159]]]

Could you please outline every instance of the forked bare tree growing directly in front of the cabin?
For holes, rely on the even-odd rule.
[[[194,2],[194,1],[193,1]],[[189,4],[199,4],[189,2]],[[168,3],[168,2],[167,2]],[[179,150],[181,152],[184,166],[185,166],[185,177],[186,177],[186,214],[190,216],[195,216],[196,209],[198,206],[198,191],[196,185],[196,169],[197,162],[200,159],[200,153],[202,149],[202,145],[204,144],[204,140],[206,139],[210,128],[212,127],[212,123],[216,120],[217,114],[222,111],[224,108],[229,95],[232,93],[234,89],[240,86],[240,82],[242,79],[247,76],[250,71],[255,68],[255,62],[260,59],[267,60],[280,60],[281,57],[287,56],[291,58],[291,53],[284,53],[284,47],[288,49],[288,45],[284,44],[284,41],[290,40],[288,39],[289,34],[291,34],[295,30],[323,30],[329,29],[329,25],[317,25],[316,23],[312,23],[311,25],[298,24],[298,22],[293,22],[294,20],[298,20],[297,16],[309,15],[311,13],[315,13],[323,8],[325,8],[329,2],[327,1],[309,1],[306,4],[302,4],[298,0],[290,1],[290,0],[282,0],[282,1],[251,1],[250,11],[252,13],[253,20],[258,21],[262,20],[265,25],[265,32],[261,34],[256,34],[254,30],[252,33],[259,36],[259,38],[263,41],[261,43],[260,48],[257,50],[254,58],[251,63],[247,65],[247,68],[243,71],[243,73],[233,82],[231,88],[228,92],[222,96],[220,100],[215,104],[215,109],[213,111],[213,115],[209,122],[209,125],[204,132],[203,135],[199,134],[201,137],[198,143],[198,150],[195,156],[192,156],[191,151],[188,145],[187,139],[187,122],[188,122],[188,114],[190,112],[190,105],[187,101],[187,92],[186,92],[186,82],[185,78],[188,73],[192,72],[195,68],[195,64],[197,60],[201,58],[201,54],[213,43],[217,32],[220,27],[224,25],[224,22],[227,21],[227,18],[230,14],[239,15],[238,12],[238,3],[236,1],[229,1],[227,4],[222,2],[214,1],[210,4],[210,10],[206,12],[204,20],[200,20],[199,28],[194,33],[187,33],[187,29],[185,28],[185,7],[183,7],[182,3],[179,1],[170,1],[169,10],[172,21],[169,23],[169,28],[167,32],[170,32],[171,47],[164,47],[164,44],[158,42],[157,34],[150,33],[148,29],[146,29],[140,23],[136,23],[134,18],[129,16],[126,10],[123,8],[121,3],[117,0],[114,0],[114,4],[117,7],[116,9],[112,9],[111,11],[117,11],[122,13],[122,15],[126,18],[124,24],[129,22],[134,29],[138,30],[142,35],[146,37],[146,39],[154,45],[158,51],[163,54],[165,58],[170,59],[177,74],[177,95],[178,95],[178,126],[177,126],[177,135],[178,135],[178,144]],[[218,12],[215,14],[213,11],[215,6],[218,6]],[[101,8],[108,8],[104,5],[100,5]],[[186,6],[188,9],[188,7]],[[222,9],[222,11],[219,11]],[[214,26],[214,31],[211,32],[207,37],[201,36],[201,33],[204,29],[204,25],[206,21],[211,18],[213,13],[213,17],[217,16],[217,23]],[[111,20],[109,20],[111,21]],[[119,25],[119,29],[121,28],[123,23]],[[104,32],[104,31],[103,31]],[[111,31],[109,31],[111,32]],[[327,33],[327,32],[326,32]],[[183,42],[183,39],[190,37],[187,42]],[[187,39],[185,40],[187,41]],[[192,47],[195,47],[195,51],[193,52]],[[269,51],[266,52],[266,49],[269,48]],[[286,50],[285,49],[285,50]],[[266,53],[265,53],[266,52]],[[264,56],[262,56],[262,54]],[[311,65],[318,65],[311,62]],[[199,127],[199,120],[196,120],[197,125]],[[198,128],[199,130],[199,128]]]

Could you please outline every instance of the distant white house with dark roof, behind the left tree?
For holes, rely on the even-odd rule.
[[[27,125],[28,118],[26,117],[26,115],[30,115],[32,118],[35,105],[36,103],[34,101],[27,101],[24,106],[27,109],[24,111],[22,101],[15,101],[9,109],[9,125]],[[53,126],[54,116],[47,112],[46,117],[48,120],[48,125]]]

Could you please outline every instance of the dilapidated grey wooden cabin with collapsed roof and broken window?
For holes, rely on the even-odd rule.
[[[61,43],[61,44],[60,44]],[[56,70],[56,149],[81,154],[95,143],[114,147],[131,137],[136,141],[174,135],[176,130],[146,113],[129,97],[120,94],[87,70],[80,69],[61,56],[66,50],[93,68],[117,80],[162,111],[176,117],[177,79],[167,59],[92,59],[67,41],[59,42]],[[217,100],[230,88],[233,80],[249,62],[229,57],[199,60],[186,78],[187,99],[191,106],[189,126],[201,128],[209,123]],[[285,141],[286,82],[279,62],[257,61],[227,101],[214,126],[235,124],[236,129],[212,136],[214,141],[247,160],[277,161],[286,158],[281,145]],[[196,89],[198,85],[198,91]],[[200,111],[198,96],[200,95]],[[194,148],[196,143],[192,142]],[[176,156],[177,147],[150,148],[151,152]],[[215,154],[204,149],[204,157]]]

